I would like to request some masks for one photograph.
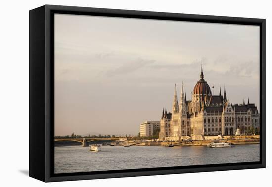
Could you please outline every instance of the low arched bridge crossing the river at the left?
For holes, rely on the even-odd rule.
[[[67,139],[54,139],[56,141],[75,141],[82,143],[83,147],[88,147],[88,143],[91,141],[98,141],[98,140],[111,140],[111,141],[127,141],[126,137],[111,137],[111,138],[67,138]]]

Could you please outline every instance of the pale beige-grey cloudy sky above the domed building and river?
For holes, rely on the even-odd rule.
[[[137,135],[200,79],[259,109],[259,27],[55,14],[55,135]]]

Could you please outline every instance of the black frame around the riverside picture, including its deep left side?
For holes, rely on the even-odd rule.
[[[260,27],[260,161],[54,174],[54,13]],[[44,5],[29,12],[29,175],[44,182],[265,168],[265,19]]]

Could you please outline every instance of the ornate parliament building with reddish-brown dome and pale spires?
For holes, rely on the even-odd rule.
[[[194,86],[192,99],[187,100],[181,88],[178,102],[175,85],[172,113],[165,108],[160,120],[159,141],[205,140],[205,136],[259,133],[260,123],[254,103],[231,104],[224,94],[214,95],[204,80],[202,65],[200,80]]]

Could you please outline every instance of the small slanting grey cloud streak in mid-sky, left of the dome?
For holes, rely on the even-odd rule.
[[[143,60],[143,59],[139,58],[138,60],[136,60],[134,62],[125,63],[116,69],[107,71],[106,75],[111,77],[111,76],[116,76],[116,75],[128,74],[128,73],[134,72],[140,68],[143,68],[144,66],[152,64],[154,62],[155,62],[155,60]]]

